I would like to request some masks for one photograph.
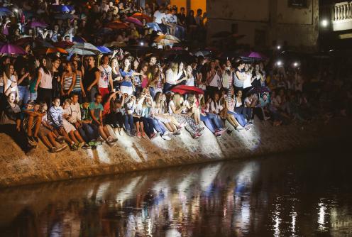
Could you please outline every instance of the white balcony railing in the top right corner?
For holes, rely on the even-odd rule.
[[[334,4],[332,10],[333,31],[352,30],[352,1]]]

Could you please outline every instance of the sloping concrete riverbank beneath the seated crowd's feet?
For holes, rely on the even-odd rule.
[[[0,133],[0,187],[304,150],[347,138],[351,128],[349,118],[275,128],[256,121],[251,131],[234,131],[232,136],[221,138],[207,129],[198,140],[186,131],[170,141],[117,136],[119,141],[112,146],[55,154],[40,143],[31,155],[25,155],[11,138]]]

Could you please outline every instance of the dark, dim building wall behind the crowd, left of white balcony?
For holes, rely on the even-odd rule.
[[[219,31],[246,35],[254,48],[287,44],[314,50],[319,37],[318,0],[207,0],[207,40]]]

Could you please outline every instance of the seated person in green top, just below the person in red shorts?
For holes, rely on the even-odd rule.
[[[101,94],[95,94],[95,101],[92,101],[89,104],[90,116],[92,117],[92,123],[98,127],[100,136],[106,141],[106,143],[112,144],[115,143],[117,139],[110,136],[108,129],[103,124],[104,108],[101,104],[102,98]]]

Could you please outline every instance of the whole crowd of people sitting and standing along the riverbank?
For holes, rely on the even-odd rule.
[[[75,13],[79,18],[49,21],[60,4],[70,6],[64,15]],[[22,1],[15,6],[3,1],[2,9],[13,12],[2,17],[1,37],[13,43],[25,34],[33,39],[22,45],[23,55],[5,54],[0,65],[0,132],[11,136],[25,152],[36,148],[39,140],[57,153],[67,146],[77,150],[101,142],[114,145],[119,136],[171,140],[187,131],[197,139],[205,128],[217,137],[231,136],[235,130],[251,129],[254,116],[280,126],[292,120],[310,121],[317,114],[297,67],[286,71],[280,65],[203,55],[193,57],[192,62],[154,54],[137,57],[121,48],[69,57],[36,52],[33,42],[74,45],[72,40],[78,36],[101,45],[116,34],[103,39],[94,32],[136,12],[155,18],[145,26],[147,35],[158,33],[154,27],[162,33],[180,34],[180,38],[204,32],[202,11],[189,18],[181,9],[181,15],[170,22],[177,15],[175,8],[171,13],[163,6],[156,11],[148,5],[136,9],[131,1],[72,4]],[[27,27],[36,20],[48,22],[52,30]],[[136,26],[128,27],[116,32],[116,41],[131,43],[142,38]],[[341,113],[347,107],[344,103]]]

